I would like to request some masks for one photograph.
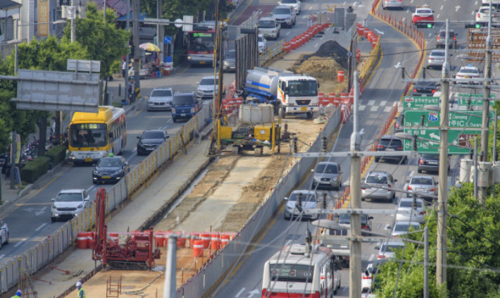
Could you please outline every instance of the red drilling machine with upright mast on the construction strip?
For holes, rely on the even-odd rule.
[[[133,235],[127,244],[120,245],[107,234],[106,190],[99,188],[96,194],[96,232],[92,259],[102,261],[103,267],[113,269],[149,270],[154,268],[154,259],[160,259],[159,249],[153,251],[153,228],[140,235]]]

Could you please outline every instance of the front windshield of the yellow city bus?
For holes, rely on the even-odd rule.
[[[70,125],[70,145],[73,147],[105,147],[108,131],[104,123]]]

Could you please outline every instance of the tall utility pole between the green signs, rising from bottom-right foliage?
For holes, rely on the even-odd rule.
[[[446,284],[446,206],[448,204],[448,101],[449,101],[449,19],[446,19],[446,46],[442,68],[441,123],[439,141],[439,185],[437,193],[437,252],[436,252],[436,282]]]

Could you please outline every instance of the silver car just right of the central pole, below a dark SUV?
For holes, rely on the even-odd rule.
[[[370,199],[385,199],[391,201],[396,197],[396,192],[391,190],[394,187],[394,179],[387,172],[370,172],[361,184],[361,201]],[[380,188],[380,187],[383,187]]]

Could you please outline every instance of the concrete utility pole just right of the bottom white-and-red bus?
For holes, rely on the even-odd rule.
[[[351,134],[351,208],[361,209],[361,136],[358,129],[358,72],[354,72],[354,125]],[[351,258],[349,259],[349,297],[361,298],[361,213],[351,213]]]

